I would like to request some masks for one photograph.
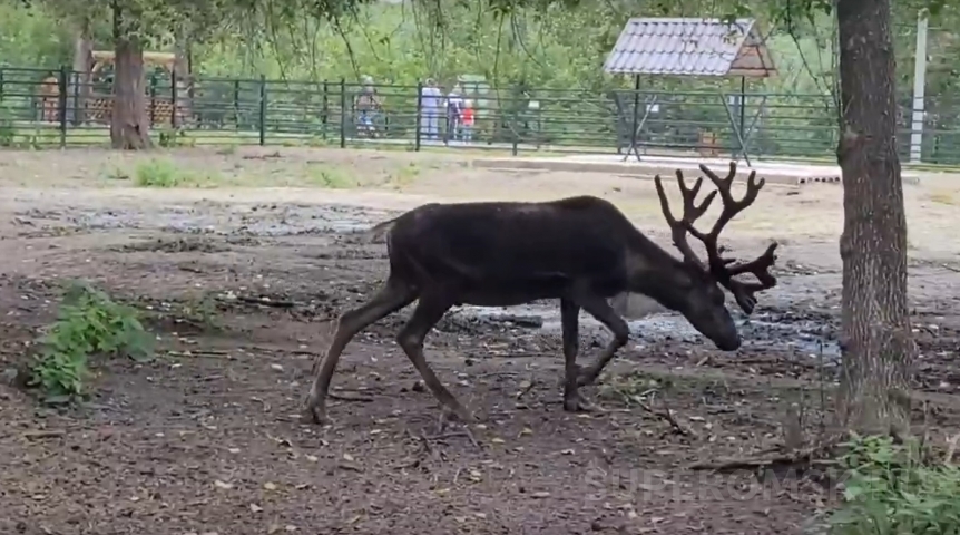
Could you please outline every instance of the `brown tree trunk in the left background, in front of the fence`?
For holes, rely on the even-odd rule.
[[[144,75],[144,41],[135,13],[114,2],[114,113],[110,143],[114,148],[138,150],[150,147],[149,118]]]

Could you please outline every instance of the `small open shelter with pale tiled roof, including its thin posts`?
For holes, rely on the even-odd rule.
[[[747,166],[750,138],[766,106],[766,97],[746,125],[746,79],[766,78],[776,74],[773,58],[754,19],[737,19],[732,23],[719,19],[635,18],[627,21],[614,49],[604,62],[604,70],[635,77],[630,148],[624,162],[636,154],[640,159],[639,137],[657,106],[657,96],[646,98],[646,110],[639,116],[640,76],[741,77],[739,120],[722,94],[731,128],[737,140],[734,157],[742,156]],[[619,108],[619,107],[618,107]],[[619,143],[619,142],[618,142]],[[703,135],[698,140],[703,145]]]

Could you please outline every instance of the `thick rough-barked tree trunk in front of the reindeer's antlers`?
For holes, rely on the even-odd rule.
[[[843,367],[840,424],[909,432],[915,353],[907,305],[907,215],[897,154],[890,0],[840,0]]]

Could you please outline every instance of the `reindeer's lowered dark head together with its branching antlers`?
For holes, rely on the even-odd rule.
[[[670,226],[674,245],[684,256],[684,266],[688,284],[684,284],[680,292],[676,294],[675,310],[694,325],[696,330],[709,338],[717,348],[724,351],[734,351],[739,348],[739,333],[733,322],[726,305],[721,286],[726,288],[733,294],[739,308],[751,314],[756,307],[756,293],[776,285],[776,279],[770,273],[771,266],[776,261],[774,251],[776,242],[772,243],[757,259],[736,263],[736,259],[721,256],[723,247],[717,243],[719,233],[738,213],[743,212],[756,201],[756,196],[764,185],[764,179],[756,181],[756,172],[751,171],[747,178],[746,193],[739,201],[733,198],[731,186],[736,177],[736,163],[731,162],[729,173],[725,178],[718,177],[707,166],[701,165],[701,171],[714,183],[716,191],[711,192],[703,202],[697,205],[696,196],[703,185],[703,177],[697,178],[693,187],[687,187],[683,172],[677,169],[677,184],[684,201],[683,216],[677,220],[670,212],[669,201],[664,192],[660,176],[654,178],[657,186],[657,195],[660,197],[660,208]],[[694,227],[694,222],[699,218],[711,203],[719,194],[723,202],[723,212],[714,223],[713,228],[704,234]],[[697,256],[687,242],[687,236],[693,235],[701,242],[707,253],[704,262]],[[758,282],[744,282],[735,276],[752,273]]]

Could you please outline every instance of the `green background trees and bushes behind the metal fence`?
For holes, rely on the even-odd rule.
[[[0,6],[13,1],[0,0]],[[753,17],[760,20],[762,31],[773,28],[766,41],[780,72],[770,79],[747,84],[748,93],[775,94],[767,100],[760,96],[747,99],[747,124],[760,113],[761,103],[765,104],[765,111],[757,121],[762,132],[751,138],[752,148],[783,156],[821,156],[832,153],[836,143],[835,137],[824,135],[835,130],[836,124],[832,99],[825,95],[835,86],[836,69],[832,46],[833,2],[827,0],[655,0],[639,6],[621,0],[599,3],[418,0],[404,6],[354,0],[319,4],[293,0],[266,3],[124,0],[120,4],[128,14],[141,14],[135,25],[136,31],[146,40],[145,47],[149,50],[173,50],[176,42],[183,45],[190,38],[193,67],[198,74],[194,109],[203,113],[207,124],[232,121],[237,129],[258,129],[259,95],[254,79],[263,75],[272,80],[295,80],[271,85],[266,115],[283,116],[277,121],[285,125],[313,120],[308,128],[300,127],[315,132],[321,129],[316,111],[321,107],[330,113],[324,119],[341,116],[340,96],[335,95],[340,80],[350,84],[369,75],[376,84],[394,85],[389,89],[393,95],[384,98],[390,136],[412,138],[414,86],[432,77],[444,90],[457,81],[468,91],[474,80],[479,84],[476,87],[484,87],[482,98],[489,105],[479,107],[487,108],[489,115],[484,117],[478,111],[474,128],[478,140],[526,139],[535,145],[551,145],[562,144],[559,139],[590,139],[590,145],[605,147],[610,147],[617,138],[625,145],[623,137],[630,128],[623,118],[631,115],[631,106],[618,108],[609,91],[630,89],[631,80],[606,75],[601,69],[629,17]],[[16,8],[20,11],[27,9],[19,0],[16,6],[20,6]],[[911,105],[909,91],[915,40],[912,28],[917,11],[932,7],[927,0],[892,6],[901,111]],[[38,32],[41,36],[62,31],[63,20],[76,27],[77,13],[87,16],[97,40],[95,48],[112,48],[110,13],[105,0],[92,3],[43,0],[35,3],[29,12],[35,25],[47,29]],[[65,16],[65,12],[74,16]],[[954,8],[931,9],[931,12],[933,28],[953,28],[960,22]],[[6,32],[6,21],[0,18],[0,36]],[[69,50],[69,42],[65,45]],[[12,50],[7,61],[36,66],[31,56],[35,48],[21,47],[22,55],[21,49]],[[960,108],[939,96],[952,95],[958,89],[953,68],[958,55],[960,41],[953,39],[952,32],[931,30],[931,67],[927,78],[930,96],[927,117],[931,134],[924,136],[923,147],[927,160],[956,160],[947,157],[947,150],[960,138],[951,133],[960,124]],[[50,62],[46,65],[56,67]],[[247,81],[217,77],[246,78]],[[395,88],[395,85],[406,87]],[[32,85],[25,84],[19,90],[27,87]],[[660,96],[660,111],[646,125],[652,132],[656,130],[656,135],[647,143],[690,147],[699,136],[697,130],[705,129],[717,134],[725,149],[733,150],[737,145],[721,105],[723,99],[705,103],[703,95],[689,98],[686,95],[738,93],[738,79],[644,77],[641,87]],[[306,96],[307,90],[312,95]],[[542,120],[523,117],[523,111],[513,115],[513,108],[526,106],[521,98],[523,90],[530,98],[549,101],[542,108]],[[168,93],[168,89],[159,93]],[[823,97],[823,106],[811,106],[815,100],[811,95]],[[695,101],[697,99],[701,101]],[[27,109],[26,104],[23,109]],[[768,113],[771,110],[775,111]],[[307,117],[311,113],[312,117]],[[908,128],[909,113],[901,115],[907,117],[901,127]],[[344,132],[352,137],[353,120],[349,113],[345,116],[350,125]],[[323,128],[326,126],[324,120]],[[909,136],[898,139],[900,148],[905,149]],[[179,146],[186,140],[178,133],[159,134],[161,147]]]

